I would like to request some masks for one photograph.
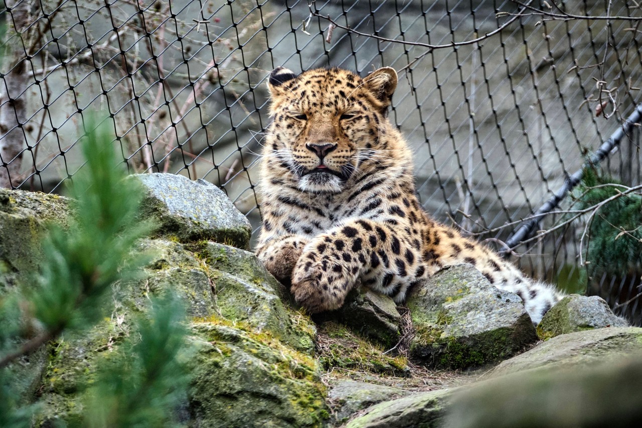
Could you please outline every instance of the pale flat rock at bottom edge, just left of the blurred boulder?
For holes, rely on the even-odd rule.
[[[344,428],[416,428],[443,426],[444,406],[457,389],[409,395],[369,407]]]

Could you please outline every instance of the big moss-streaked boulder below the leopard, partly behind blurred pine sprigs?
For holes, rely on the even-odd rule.
[[[198,361],[203,359],[203,367],[191,366],[196,401],[186,404],[188,410],[194,408],[194,417],[200,424],[195,422],[196,426],[248,426],[230,422],[238,415],[230,419],[225,416],[223,420],[228,425],[207,420],[204,415],[213,415],[212,410],[200,410],[205,398],[196,394],[206,386],[208,393],[218,391],[220,406],[246,409],[248,415],[252,415],[250,408],[256,409],[265,413],[261,418],[267,418],[257,416],[257,420],[273,417],[278,421],[272,426],[290,426],[279,425],[281,418],[291,420],[291,426],[319,424],[326,410],[320,395],[318,364],[311,357],[315,326],[309,317],[284,305],[273,288],[282,285],[265,272],[254,254],[223,244],[181,244],[162,239],[141,240],[138,248],[152,254],[146,277],[117,284],[119,304],[112,317],[83,334],[65,335],[45,359],[46,371],[40,385],[42,422],[79,417],[82,408],[75,404],[82,402],[79,398],[83,382],[91,379],[103,358],[117,351],[127,335],[132,314],[144,314],[149,297],[171,290],[187,302],[188,314],[197,326],[194,334],[201,337]],[[216,347],[202,343],[203,338],[216,342]],[[256,367],[250,370],[248,364]],[[241,382],[240,389],[232,391],[230,384],[220,380],[224,376],[230,382]],[[264,385],[265,382],[275,385]],[[282,402],[275,407],[274,400]],[[272,409],[272,416],[265,409]]]

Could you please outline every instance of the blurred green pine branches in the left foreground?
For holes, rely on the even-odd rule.
[[[133,251],[151,230],[137,218],[137,182],[114,168],[107,135],[89,132],[82,150],[87,163],[69,188],[76,201],[69,228],[49,228],[33,283],[0,295],[0,427],[28,427],[38,411],[17,402],[12,364],[64,332],[96,325],[114,306],[112,284],[135,278],[148,260]],[[169,425],[187,382],[185,312],[171,294],[150,305],[85,392],[83,426]]]

